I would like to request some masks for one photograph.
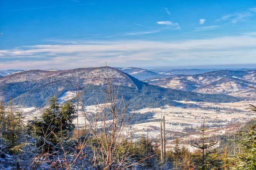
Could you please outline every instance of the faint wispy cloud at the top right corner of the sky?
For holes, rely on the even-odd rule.
[[[222,16],[217,19],[216,22],[219,21],[229,21],[231,23],[243,22],[249,20],[250,17],[256,15],[256,7],[249,8],[249,10],[240,12],[240,13],[232,13]]]

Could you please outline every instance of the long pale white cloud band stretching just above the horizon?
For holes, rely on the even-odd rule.
[[[67,69],[98,67],[104,62],[117,67],[244,64],[256,63],[255,55],[255,36],[170,42],[94,41],[0,50],[0,68]]]

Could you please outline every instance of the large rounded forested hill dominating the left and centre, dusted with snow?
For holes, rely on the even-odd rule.
[[[240,98],[219,94],[200,94],[162,88],[108,67],[111,83],[119,85],[119,94],[125,100],[131,100],[131,106],[160,107],[162,105],[184,105],[173,100],[204,102],[236,102]],[[63,96],[66,92],[74,92],[76,87],[84,89],[84,102],[94,105],[98,100],[103,103],[105,85],[107,83],[106,67],[77,68],[73,70],[30,70],[15,73],[0,79],[0,97],[5,102],[13,98],[13,103],[25,107],[42,107],[48,104],[49,98]]]

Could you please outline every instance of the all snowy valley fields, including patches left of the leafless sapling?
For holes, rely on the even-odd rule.
[[[73,93],[74,94],[74,93]],[[72,97],[73,94],[69,93],[68,96]],[[150,122],[140,123],[135,125],[129,125],[125,128],[123,133],[133,133],[133,138],[139,138],[141,135],[147,135],[150,138],[159,138],[160,136],[160,122],[159,119],[165,116],[166,126],[166,138],[167,145],[172,146],[173,138],[178,137],[180,142],[186,142],[192,139],[199,139],[199,135],[187,134],[184,129],[186,128],[199,128],[204,119],[205,125],[210,128],[208,130],[209,136],[211,135],[223,135],[225,133],[234,132],[234,129],[227,126],[232,123],[245,123],[252,118],[256,118],[256,114],[249,110],[249,103],[256,105],[256,102],[235,102],[235,103],[207,103],[207,102],[185,102],[181,103],[196,104],[197,108],[181,108],[171,107],[166,105],[163,108],[143,108],[137,110],[136,113],[152,112],[153,118]],[[90,116],[91,113],[99,112],[103,108],[101,105],[85,106],[84,111]],[[214,108],[214,109],[212,109]],[[217,108],[217,109],[216,109]],[[15,110],[19,108],[14,107]],[[25,120],[32,119],[33,117],[39,117],[43,109],[37,110],[36,108],[20,108],[24,112]],[[79,127],[84,127],[86,119],[79,107]],[[88,122],[87,122],[88,123]],[[77,120],[74,120],[74,124],[77,124]],[[128,134],[127,134],[128,135]],[[191,148],[193,149],[193,148]]]

